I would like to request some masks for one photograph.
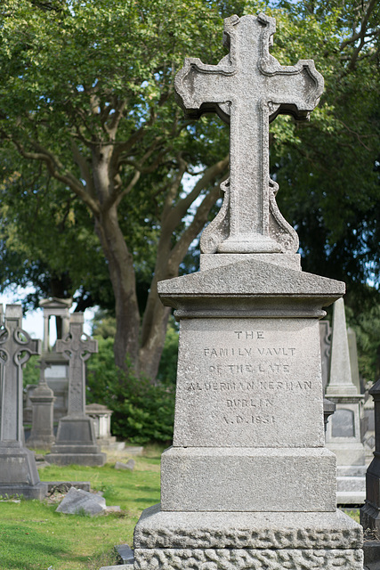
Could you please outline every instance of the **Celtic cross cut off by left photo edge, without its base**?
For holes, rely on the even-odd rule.
[[[3,307],[2,311],[3,312]],[[0,315],[1,316],[1,315]],[[22,443],[22,371],[31,354],[41,354],[41,341],[21,329],[21,305],[6,305],[0,332],[0,442]]]

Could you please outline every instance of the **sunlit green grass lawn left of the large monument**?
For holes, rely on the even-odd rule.
[[[99,570],[115,563],[113,547],[132,545],[141,511],[159,502],[159,464],[163,449],[148,448],[133,472],[117,470],[109,458],[102,468],[51,466],[41,481],[90,481],[107,506],[121,513],[99,517],[56,513],[59,501],[0,502],[0,570]]]

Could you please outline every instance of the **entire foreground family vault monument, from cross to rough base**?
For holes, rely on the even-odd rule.
[[[301,271],[268,167],[268,122],[307,118],[323,81],[312,61],[271,57],[274,31],[263,14],[232,16],[230,53],[188,59],[175,79],[190,117],[230,121],[230,184],[200,272],[158,284],[180,321],[174,444],[161,504],[135,528],[135,570],[363,567],[324,447],[319,318],[344,283]]]

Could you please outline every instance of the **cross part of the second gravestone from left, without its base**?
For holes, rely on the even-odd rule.
[[[83,323],[83,313],[72,314],[68,337],[56,343],[57,353],[69,361],[69,416],[85,415],[85,361],[98,352],[98,342],[83,332]]]

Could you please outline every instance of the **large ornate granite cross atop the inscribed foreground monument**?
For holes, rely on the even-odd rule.
[[[281,66],[269,53],[274,18],[231,16],[224,20],[223,43],[230,48],[217,65],[187,58],[175,77],[175,91],[190,118],[215,111],[230,122],[230,188],[227,230],[206,231],[204,253],[296,251],[296,234],[279,213],[278,184],[269,177],[269,122],[279,113],[309,118],[323,91],[312,60]],[[226,209],[226,208],[224,208]],[[216,218],[215,218],[216,220]],[[204,232],[205,233],[205,232]]]

